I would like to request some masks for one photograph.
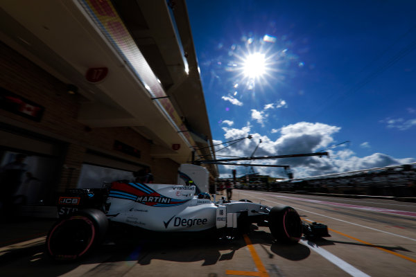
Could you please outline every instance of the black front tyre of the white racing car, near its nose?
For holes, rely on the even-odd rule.
[[[280,242],[297,243],[302,236],[302,221],[294,208],[275,206],[268,215],[269,229]]]

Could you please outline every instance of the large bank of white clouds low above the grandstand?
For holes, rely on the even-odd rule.
[[[241,129],[223,127],[223,130],[226,141],[241,139],[250,134],[250,124]],[[244,139],[239,143],[221,150],[217,154],[234,157],[250,157],[257,145],[259,145],[259,148],[255,152],[254,157],[316,152],[336,142],[333,136],[339,132],[340,127],[324,123],[300,122],[275,130],[281,134],[279,139],[275,141],[269,139],[268,136],[255,133],[252,134],[252,139]],[[262,141],[261,143],[259,143],[260,139]],[[216,141],[214,143],[216,144]],[[220,148],[223,148],[223,145],[216,147],[217,150]],[[379,168],[416,161],[413,158],[397,159],[382,153],[374,153],[367,157],[357,157],[356,153],[347,148],[336,149],[338,148],[328,151],[329,158],[298,157],[260,159],[252,161],[252,163],[288,165],[291,166],[295,178],[300,178],[335,172]],[[246,163],[246,161],[239,161],[238,163]],[[245,175],[247,172],[247,167],[243,166],[219,166],[219,169],[222,177],[228,177],[232,169],[237,170],[238,176]],[[286,177],[284,170],[281,168],[257,167],[254,169],[263,175]]]

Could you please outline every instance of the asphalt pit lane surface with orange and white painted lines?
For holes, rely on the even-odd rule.
[[[416,276],[416,203],[234,190],[233,199],[293,206],[331,237],[276,242],[252,226],[234,240],[168,236],[107,243],[74,263],[44,254],[44,236],[0,248],[0,276]]]

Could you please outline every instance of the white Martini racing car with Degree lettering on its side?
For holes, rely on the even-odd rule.
[[[200,232],[232,236],[257,224],[268,226],[274,238],[287,243],[297,243],[302,233],[327,235],[322,224],[302,224],[290,206],[271,208],[224,197],[217,201],[216,195],[207,193],[204,170],[191,165],[188,172],[179,172],[174,185],[114,181],[109,188],[68,190],[58,197],[60,218],[46,237],[46,252],[54,260],[83,258],[114,233],[111,229],[120,226],[157,235]]]

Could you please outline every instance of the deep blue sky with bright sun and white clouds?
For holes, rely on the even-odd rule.
[[[288,164],[295,177],[416,161],[416,1],[188,0],[187,8],[214,142],[253,136],[217,155],[249,157],[260,139],[255,156],[350,141],[329,159],[255,162]],[[248,171],[221,166],[221,176],[231,169]]]

